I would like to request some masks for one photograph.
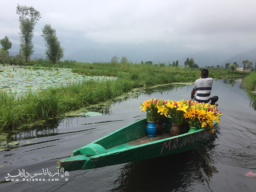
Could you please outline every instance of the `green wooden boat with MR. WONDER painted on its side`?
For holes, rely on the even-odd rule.
[[[129,124],[76,149],[71,157],[57,161],[57,167],[65,171],[93,169],[182,153],[200,147],[210,135],[207,129],[199,129],[175,137],[170,132],[148,137],[146,126],[146,118]],[[171,126],[167,123],[166,129]]]

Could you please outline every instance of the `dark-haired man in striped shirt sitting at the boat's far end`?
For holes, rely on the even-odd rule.
[[[215,102],[218,101],[219,97],[210,97],[213,79],[208,77],[209,71],[207,69],[203,69],[200,75],[200,79],[195,81],[193,90],[191,92],[191,99],[195,98],[195,101],[199,103],[210,103],[211,105],[214,105]]]

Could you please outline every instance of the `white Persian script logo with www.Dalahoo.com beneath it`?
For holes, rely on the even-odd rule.
[[[48,168],[47,169],[44,169],[43,168],[43,172],[39,172],[39,173],[34,173],[34,175],[33,174],[29,174],[28,172],[25,172],[25,170],[24,169],[22,169],[22,171],[20,171],[19,169],[19,174],[18,175],[10,175],[9,173],[7,174],[7,176],[4,176],[5,177],[5,179],[6,179],[6,181],[59,181],[59,179],[58,178],[55,178],[55,179],[45,179],[45,178],[43,178],[43,179],[37,179],[37,178],[35,178],[35,177],[37,177],[37,176],[40,176],[40,175],[42,175],[42,176],[49,176],[49,177],[56,177],[56,176],[60,176],[61,178],[63,178],[64,176],[65,176],[65,181],[67,181],[68,180],[68,178],[67,178],[67,176],[69,176],[69,173],[68,173],[68,171],[65,171],[64,170],[64,168],[63,167],[57,167],[58,168],[58,172],[55,172],[55,173],[51,173],[49,170],[48,170]],[[59,168],[60,168],[60,171],[59,171]],[[15,178],[15,177],[19,177],[19,178]],[[22,178],[23,177],[23,178]]]

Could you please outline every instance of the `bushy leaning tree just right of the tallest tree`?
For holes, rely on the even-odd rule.
[[[51,24],[45,24],[44,28],[42,28],[42,32],[43,34],[41,36],[44,37],[46,46],[46,58],[56,63],[57,60],[64,57],[64,49],[60,46],[60,41],[56,36],[56,30],[51,27]]]

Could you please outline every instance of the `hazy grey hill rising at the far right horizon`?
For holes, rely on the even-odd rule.
[[[243,67],[242,66],[242,61],[248,59],[249,61],[252,61],[253,63],[256,62],[256,48],[252,49],[251,51],[248,52],[244,52],[238,55],[235,55],[234,57],[231,57],[227,60],[225,60],[224,62],[220,63],[220,66],[225,66],[226,63],[234,63],[236,62],[239,67]]]

